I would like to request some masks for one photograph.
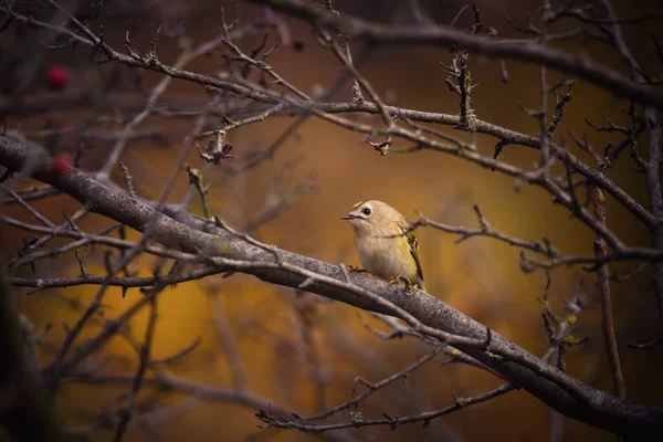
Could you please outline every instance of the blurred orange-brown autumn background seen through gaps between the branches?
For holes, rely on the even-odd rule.
[[[63,6],[74,7],[73,3],[63,2]],[[341,13],[387,23],[412,22],[409,3],[396,0],[334,1]],[[442,24],[451,23],[465,4],[455,0],[420,3],[428,17]],[[131,44],[135,50],[145,53],[159,23],[162,23],[158,55],[164,63],[171,64],[179,50],[177,39],[168,38],[168,32],[186,29],[192,45],[197,46],[220,32],[221,6],[225,8],[227,18],[234,19],[234,4],[230,1],[211,4],[152,0],[137,7],[129,1],[114,1],[90,18],[94,23],[91,29],[98,29],[96,25],[103,23],[108,44],[124,52],[125,27],[130,23]],[[499,35],[517,35],[505,17],[526,25],[528,17],[537,20],[539,4],[536,1],[477,0],[476,6],[485,27],[495,28]],[[661,3],[654,0],[615,1],[614,6],[621,17],[663,12]],[[246,3],[240,3],[240,24],[265,13]],[[274,51],[269,63],[304,92],[320,94],[339,77],[337,60],[314,41],[308,25],[285,17],[282,20],[287,40]],[[456,27],[469,28],[473,20],[472,12],[467,10],[460,15]],[[95,63],[82,48],[49,49],[44,44],[44,32],[22,29],[18,23],[11,27],[0,34],[3,93],[0,109],[7,116],[7,129],[19,130],[52,152],[75,152],[82,148],[81,167],[86,170],[99,168],[114,144],[105,134],[117,128],[122,118],[140,110],[147,92],[160,80],[160,75],[113,63]],[[660,21],[624,27],[624,33],[643,69],[651,71],[655,61],[652,35],[663,36]],[[270,32],[267,48],[276,41],[275,35],[275,32]],[[249,51],[261,42],[262,36],[262,32],[249,34],[236,43]],[[604,44],[570,41],[557,45],[587,53],[613,69],[622,69],[620,59]],[[366,51],[360,43],[350,42],[350,46],[356,60]],[[228,50],[220,48],[218,52],[227,53]],[[444,82],[446,74],[440,64],[449,64],[451,59],[452,53],[444,49],[379,48],[368,52],[360,72],[390,104],[455,115],[459,113],[459,99],[449,91]],[[46,80],[53,66],[66,66],[70,75],[67,84],[57,91]],[[502,81],[502,66],[496,61],[471,56],[470,67],[472,82],[478,84],[472,93],[476,116],[536,136],[538,122],[523,113],[518,105],[538,108],[538,67],[507,61],[507,82]],[[224,69],[224,61],[212,54],[192,61],[187,69],[214,74]],[[559,80],[562,76],[549,73],[550,84]],[[209,102],[209,95],[202,87],[177,80],[171,82],[162,98],[173,106],[202,107]],[[346,84],[329,99],[350,98],[350,84]],[[549,105],[551,110],[551,98]],[[627,105],[606,91],[577,83],[556,140],[566,143],[575,155],[593,166],[591,158],[572,145],[568,130],[587,133],[588,140],[601,151],[607,143],[619,140],[619,134],[597,133],[583,118],[602,123],[601,113],[606,113],[615,124],[623,124],[628,120],[622,112]],[[364,115],[352,115],[351,118],[375,122],[375,117]],[[232,154],[241,158],[211,166],[203,176],[203,181],[210,186],[213,212],[238,229],[249,229],[263,242],[326,262],[358,265],[351,229],[339,217],[357,201],[379,199],[411,219],[417,218],[413,210],[419,209],[431,219],[465,227],[477,227],[473,204],[478,204],[491,225],[502,232],[525,240],[548,238],[567,254],[592,253],[593,233],[569,218],[566,209],[552,204],[549,196],[540,189],[525,185],[522,191],[515,192],[512,178],[443,154],[398,154],[397,150],[411,147],[401,141],[394,143],[392,154],[380,156],[364,143],[362,135],[316,118],[307,119],[271,158],[250,170],[241,170],[252,155],[269,148],[293,120],[291,116],[277,116],[231,131],[228,141],[234,146]],[[210,117],[211,125],[219,122],[218,117]],[[128,141],[122,160],[133,172],[139,196],[148,199],[159,197],[183,139],[191,134],[192,127],[192,118],[155,116],[136,128],[136,133],[141,135]],[[483,135],[473,137],[449,127],[438,128],[469,143],[475,141],[477,149],[485,155],[492,154],[496,141]],[[645,139],[640,141],[644,144]],[[509,146],[501,158],[533,169],[538,154]],[[193,151],[188,164],[202,167],[203,161]],[[645,178],[634,171],[633,165],[628,155],[623,155],[609,176],[649,207]],[[118,168],[114,169],[112,178],[123,183]],[[303,183],[305,190],[298,191]],[[30,185],[33,183],[27,183]],[[187,177],[181,173],[169,201],[180,201],[187,190]],[[261,220],[265,210],[282,204],[291,197],[292,204],[285,204],[282,213],[266,222],[256,221]],[[60,223],[64,221],[63,211],[72,214],[78,209],[74,200],[64,196],[55,196],[34,206]],[[198,198],[191,210],[202,214]],[[17,206],[6,207],[3,211],[18,219],[30,219]],[[98,231],[108,223],[102,217],[87,215],[78,225],[85,231]],[[643,227],[610,199],[608,224],[627,244],[650,243]],[[546,278],[541,272],[524,274],[520,271],[518,250],[490,239],[470,239],[454,244],[455,236],[432,229],[418,230],[417,235],[431,294],[528,351],[535,355],[545,352],[548,343],[537,297],[544,291]],[[11,259],[30,238],[31,234],[23,231],[2,227],[6,259]],[[129,232],[129,238],[138,235]],[[64,243],[64,240],[53,240],[50,245]],[[102,257],[102,253],[91,251],[88,272],[104,274]],[[635,266],[622,264],[611,270],[627,271]],[[133,269],[140,275],[150,275],[154,261],[144,259]],[[17,275],[30,275],[31,272],[29,266],[24,266]],[[43,277],[53,277],[77,275],[80,270],[73,253],[67,252],[57,259],[38,263],[35,272]],[[596,274],[581,269],[551,272],[550,299],[554,308],[564,314],[564,299],[570,298],[576,290],[580,291],[580,297],[588,306],[598,307],[600,299],[594,277]],[[612,283],[611,286],[628,399],[642,404],[661,404],[663,347],[642,351],[627,348],[629,341],[649,339],[657,327],[650,278],[651,274],[645,271],[631,281]],[[21,312],[36,329],[52,324],[40,347],[43,364],[53,359],[65,336],[62,324],[75,323],[96,291],[96,286],[76,286],[28,295],[28,290],[15,290]],[[112,288],[104,298],[102,314],[106,319],[117,317],[140,296],[137,290],[129,290],[123,298],[119,290]],[[246,381],[253,391],[269,398],[275,407],[292,409],[299,414],[319,412],[341,403],[349,398],[352,388],[364,391],[362,386],[354,383],[356,377],[378,381],[402,370],[430,350],[412,338],[381,339],[366,324],[386,328],[365,312],[271,286],[245,275],[182,283],[165,291],[159,299],[154,357],[166,358],[199,341],[193,351],[168,367],[170,372],[206,385],[230,388],[231,372],[224,357],[228,346],[223,345],[219,332],[222,327],[230,330],[236,340]],[[130,334],[141,339],[146,322],[147,311],[130,323]],[[91,325],[82,338],[98,330]],[[610,390],[599,309],[583,311],[573,334],[589,340],[567,352],[569,373],[593,387]],[[78,341],[82,341],[81,338]],[[476,368],[461,364],[441,365],[445,359],[444,355],[440,355],[419,368],[407,381],[398,381],[376,392],[360,406],[364,417],[373,419],[381,418],[382,412],[394,417],[433,411],[453,403],[452,394],[476,396],[502,383]],[[137,364],[134,347],[127,339],[117,336],[82,369],[102,375],[124,373],[130,379]],[[129,388],[128,382],[84,385],[72,381],[63,385],[57,402],[69,425],[90,431],[95,440],[109,440],[113,432],[105,422]],[[309,441],[330,435],[260,430],[254,408],[187,398],[187,394],[147,386],[139,397],[144,419],[134,420],[126,440]],[[340,415],[344,420],[350,418],[348,411]],[[474,441],[488,438],[538,441],[559,436],[561,439],[557,440],[615,440],[601,430],[559,418],[524,391],[509,392],[435,419],[425,430],[413,424],[393,432],[389,428],[364,428],[349,433],[359,440],[373,441]]]

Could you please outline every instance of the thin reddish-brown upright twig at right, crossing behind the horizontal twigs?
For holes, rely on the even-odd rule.
[[[590,189],[594,215],[601,224],[606,225],[606,197],[603,196],[603,191],[594,183],[591,185]],[[607,253],[608,245],[602,238],[597,236],[593,249],[594,255],[600,259]],[[620,399],[625,399],[627,386],[624,383],[624,376],[619,360],[619,350],[617,347],[617,338],[614,336],[614,323],[612,320],[610,272],[608,271],[608,264],[601,264],[599,266],[597,273],[597,286],[601,295],[601,329],[603,332],[603,338],[606,339],[606,349],[608,350],[608,360],[610,362],[614,392]]]

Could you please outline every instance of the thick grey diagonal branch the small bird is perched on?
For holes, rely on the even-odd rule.
[[[60,188],[86,204],[91,211],[133,229],[143,231],[154,219],[151,238],[165,245],[196,255],[223,256],[227,263],[232,259],[243,260],[242,263],[251,262],[253,264],[238,265],[233,270],[290,287],[305,284],[309,292],[362,309],[388,314],[404,312],[422,325],[420,332],[440,330],[432,336],[443,339],[457,336],[452,341],[459,349],[568,417],[620,434],[663,434],[663,409],[632,404],[596,390],[548,366],[501,335],[487,333],[484,325],[428,294],[417,292],[404,295],[398,287],[381,281],[359,274],[344,274],[336,265],[248,242],[187,213],[180,212],[177,217],[179,221],[165,214],[155,215],[150,206],[118,193],[75,169],[67,177],[60,178],[49,171],[46,158],[34,158],[35,155],[40,152],[0,137],[1,165],[19,171],[28,162],[36,164],[39,166],[32,172],[33,178]],[[274,261],[275,256],[280,262]],[[346,277],[348,282],[344,282]],[[366,293],[379,293],[380,297],[365,296]],[[379,299],[382,301],[378,303]],[[472,344],[476,341],[484,341],[485,346]]]

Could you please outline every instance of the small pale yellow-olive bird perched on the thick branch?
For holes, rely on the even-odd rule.
[[[391,283],[404,281],[425,291],[419,262],[419,243],[406,217],[377,200],[359,201],[340,217],[355,229],[355,246],[361,265],[373,276]]]

